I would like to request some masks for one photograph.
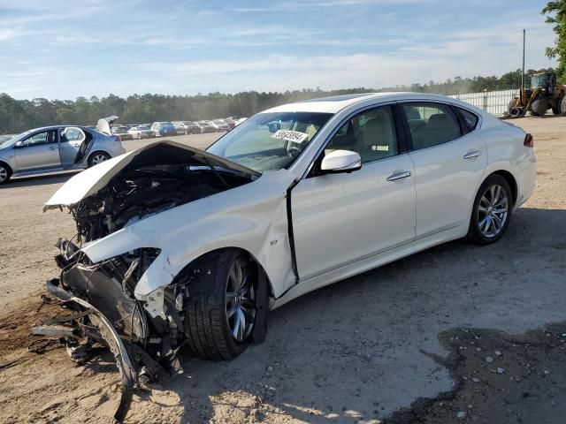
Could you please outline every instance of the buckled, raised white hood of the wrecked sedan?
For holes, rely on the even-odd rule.
[[[168,156],[169,160],[174,161],[176,158],[179,158],[179,161],[184,162],[188,158],[190,160],[189,164],[193,166],[214,166],[242,172],[256,178],[261,175],[255,170],[250,170],[223,157],[212,155],[198,148],[191,148],[175,141],[164,140],[138,148],[124,155],[119,155],[73,176],[51,196],[49,201],[45,202],[43,211],[63,206],[70,207],[88,196],[96,194],[119,171],[124,170],[129,163],[134,161],[134,158],[141,155],[164,155]]]

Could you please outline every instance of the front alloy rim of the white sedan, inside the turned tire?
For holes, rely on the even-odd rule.
[[[256,293],[248,264],[237,259],[228,271],[226,284],[226,318],[232,337],[243,342],[252,329],[256,318]]]

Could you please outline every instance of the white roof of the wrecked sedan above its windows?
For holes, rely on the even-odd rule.
[[[365,102],[371,99],[386,100],[431,100],[437,102],[452,102],[455,104],[464,104],[455,99],[444,95],[429,95],[425,93],[408,93],[408,92],[386,92],[386,93],[362,93],[356,95],[333,95],[331,97],[321,97],[318,99],[306,100],[302,102],[294,102],[276,106],[275,108],[264,110],[261,113],[268,112],[320,112],[320,113],[337,113],[348,106],[356,103]],[[469,109],[477,110],[470,104],[465,103]]]

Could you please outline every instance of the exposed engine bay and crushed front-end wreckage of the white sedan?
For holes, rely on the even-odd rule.
[[[157,381],[179,368],[177,353],[188,331],[186,301],[208,296],[212,284],[207,276],[214,264],[197,261],[184,269],[171,285],[157,292],[162,297],[160,313],[149,314],[147,302],[136,299],[134,291],[160,249],[141,247],[93,263],[81,246],[257,178],[253,171],[231,169],[221,159],[213,160],[204,152],[160,142],[143,148],[96,193],[65,205],[76,223],[77,243],[58,240],[60,253],[55,259],[61,275],[48,281],[47,288],[71,314],[55,325],[45,322],[33,332],[61,337],[71,358],[79,362],[88,360],[96,343],[110,347],[123,383],[115,414],[118,421],[126,417],[135,384]],[[206,272],[201,272],[205,267]],[[200,275],[197,284],[196,275]]]

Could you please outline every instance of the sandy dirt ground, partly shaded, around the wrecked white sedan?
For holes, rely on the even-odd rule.
[[[539,177],[500,242],[455,241],[294,300],[238,359],[181,358],[126,421],[564,422],[566,117],[513,123],[534,135]],[[0,188],[0,422],[109,422],[118,404],[108,354],[78,367],[28,333],[55,313],[40,294],[73,221],[42,202],[68,178]]]

